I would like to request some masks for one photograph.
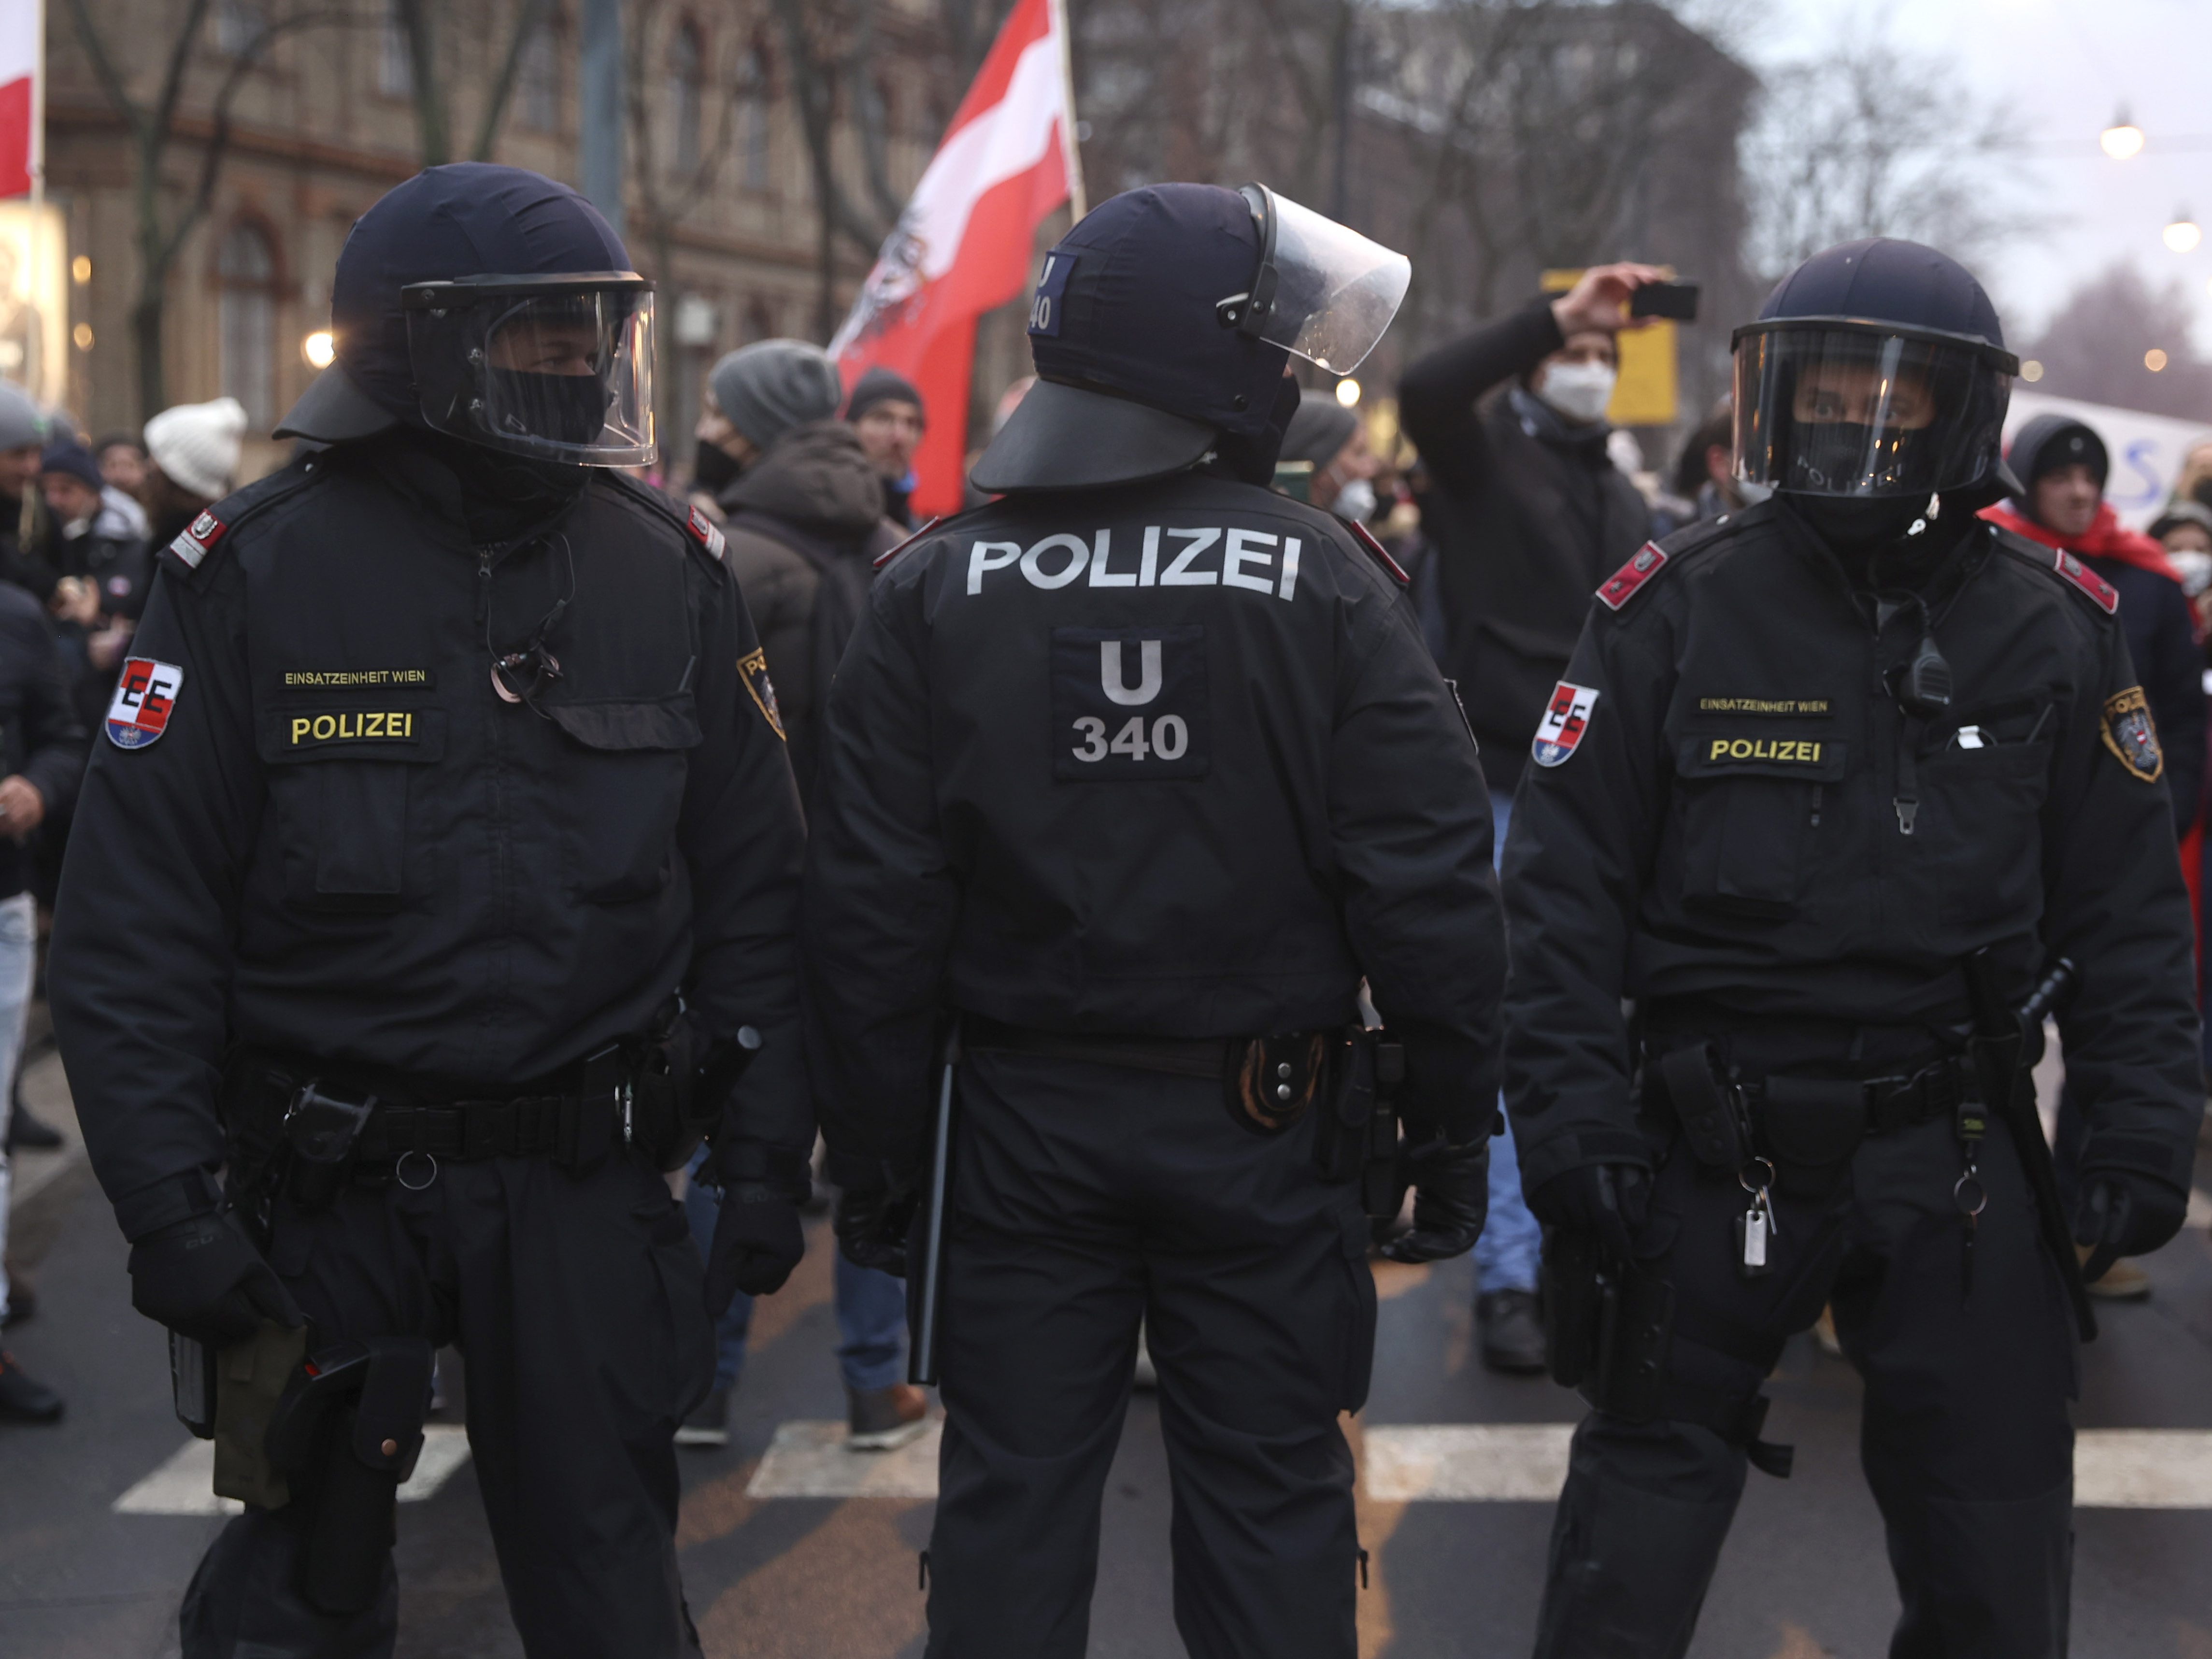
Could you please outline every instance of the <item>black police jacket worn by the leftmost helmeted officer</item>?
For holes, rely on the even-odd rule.
[[[765,1046],[723,1133],[803,1155],[803,827],[719,533],[593,473],[471,542],[422,445],[307,456],[159,555],[71,832],[53,1020],[133,1239],[212,1201],[228,1044],[513,1093],[648,1029]],[[531,701],[491,657],[542,637]],[[122,726],[122,730],[117,730]]]

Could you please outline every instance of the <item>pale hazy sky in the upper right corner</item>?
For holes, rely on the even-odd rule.
[[[2004,100],[2020,139],[2015,204],[2035,217],[1980,270],[2006,334],[2033,336],[2084,276],[2132,259],[2157,283],[2181,279],[2197,336],[2212,349],[2212,0],[1750,0],[1725,33],[1754,64],[1814,55],[1838,31],[1887,29],[1940,53],[1984,95]],[[2150,139],[2112,161],[2097,133],[2126,104]],[[2159,139],[2194,139],[2161,153]],[[2059,148],[2068,146],[2068,148]],[[2188,208],[2208,237],[2190,254],[2159,232]]]

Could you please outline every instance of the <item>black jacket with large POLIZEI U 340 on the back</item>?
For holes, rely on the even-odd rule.
[[[832,1150],[914,1168],[947,1013],[1239,1037],[1365,978],[1409,1110],[1495,1099],[1475,745],[1345,524],[1186,473],[1009,495],[878,577],[830,697],[805,887]]]

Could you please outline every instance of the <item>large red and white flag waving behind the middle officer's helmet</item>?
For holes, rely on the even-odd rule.
[[[960,511],[975,319],[1022,292],[1037,226],[1071,199],[1082,215],[1066,13],[1020,0],[830,343],[847,389],[878,363],[920,389],[918,513]]]

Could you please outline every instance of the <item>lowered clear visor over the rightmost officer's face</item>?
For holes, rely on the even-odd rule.
[[[1801,495],[1931,495],[1997,467],[2011,358],[1863,323],[1736,334],[1736,478]]]

